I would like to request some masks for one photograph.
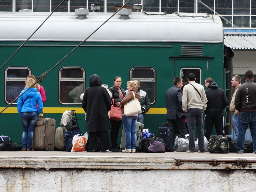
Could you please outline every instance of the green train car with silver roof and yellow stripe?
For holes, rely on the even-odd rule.
[[[1,65],[47,16],[48,13],[17,12],[0,15]],[[0,70],[0,110],[24,89],[27,75],[37,77],[50,70],[110,16],[90,13],[78,19],[72,13],[53,14]],[[123,89],[128,80],[140,79],[141,89],[148,93],[151,102],[145,114],[145,128],[158,135],[158,126],[167,122],[165,94],[174,77],[187,81],[187,75],[193,72],[202,85],[212,77],[230,98],[226,82],[230,80],[232,62],[224,62],[224,52],[223,26],[216,15],[132,13],[127,19],[115,15],[40,82],[47,99],[44,117],[55,118],[58,126],[65,110],[76,110],[77,117],[82,119],[79,126],[85,133],[81,93],[70,95],[75,87],[89,87],[92,74],[98,74],[109,87],[120,76]],[[225,117],[229,127],[229,115]],[[11,141],[21,144],[22,125],[16,104],[1,113],[0,119],[0,135],[8,135]]]

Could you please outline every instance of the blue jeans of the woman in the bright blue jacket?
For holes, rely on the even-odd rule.
[[[24,149],[31,149],[37,118],[37,112],[23,112],[20,115],[23,126],[22,148]]]

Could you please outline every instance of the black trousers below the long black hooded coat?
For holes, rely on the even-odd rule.
[[[100,150],[98,151],[97,137],[100,138]],[[89,146],[88,151],[105,152],[108,146],[109,132],[108,131],[96,131],[89,132]]]

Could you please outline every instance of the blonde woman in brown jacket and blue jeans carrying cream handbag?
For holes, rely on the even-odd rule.
[[[134,81],[127,82],[127,90],[128,93],[125,95],[123,100],[121,101],[121,109],[123,114],[123,124],[125,131],[125,149],[122,150],[123,153],[135,153],[136,151],[136,122],[138,119],[138,114],[126,117],[124,115],[124,105],[129,101],[134,100],[133,92],[135,94],[135,98],[138,101],[141,101],[141,96],[138,94],[137,83]]]

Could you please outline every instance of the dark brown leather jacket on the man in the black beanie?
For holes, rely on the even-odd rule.
[[[256,83],[252,80],[247,80],[238,88],[235,108],[242,112],[256,112]]]

